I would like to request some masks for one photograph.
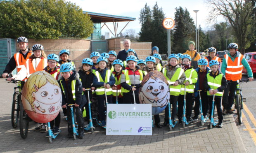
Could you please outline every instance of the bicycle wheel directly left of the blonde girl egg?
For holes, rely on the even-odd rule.
[[[20,104],[19,111],[19,133],[23,139],[26,139],[28,136],[28,115],[26,114],[23,104]]]

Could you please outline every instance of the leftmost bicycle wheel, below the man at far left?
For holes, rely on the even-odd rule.
[[[19,122],[20,100],[21,100],[21,93],[17,91],[13,94],[13,99],[12,99],[11,121],[12,121],[13,128],[16,128]]]

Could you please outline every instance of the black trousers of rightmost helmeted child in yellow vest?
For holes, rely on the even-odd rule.
[[[213,96],[208,96],[209,99],[209,107],[210,107],[210,118],[211,118],[211,109],[212,109],[212,104],[213,104]],[[216,97],[214,98],[215,102],[214,102],[214,107],[213,107],[213,118],[214,118],[214,111],[215,111],[215,106],[217,109],[217,114],[218,114],[218,120],[219,123],[222,123],[223,121],[223,115],[222,115],[222,109],[221,109],[221,97]]]

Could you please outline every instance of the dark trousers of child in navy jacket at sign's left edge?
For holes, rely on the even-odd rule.
[[[99,121],[105,120],[105,111],[107,111],[107,104],[105,103],[105,97],[98,97],[98,119]],[[112,95],[107,96],[107,102],[112,104]],[[106,105],[106,107],[105,107]]]

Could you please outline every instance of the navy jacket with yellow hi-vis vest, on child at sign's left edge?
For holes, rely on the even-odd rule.
[[[111,73],[111,70],[108,70],[107,68],[100,71],[100,68],[98,68],[94,72],[95,76],[93,77],[92,86],[96,87],[96,95],[104,95],[105,91],[102,86],[104,86],[104,83],[109,84],[110,86],[113,86],[116,82],[113,74]],[[106,89],[107,95],[112,95],[112,89]]]

